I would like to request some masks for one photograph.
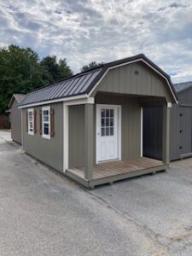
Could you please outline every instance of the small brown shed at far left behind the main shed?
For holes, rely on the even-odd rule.
[[[11,123],[11,138],[16,143],[21,142],[21,110],[20,102],[24,99],[23,94],[14,94],[9,102],[10,123]]]

